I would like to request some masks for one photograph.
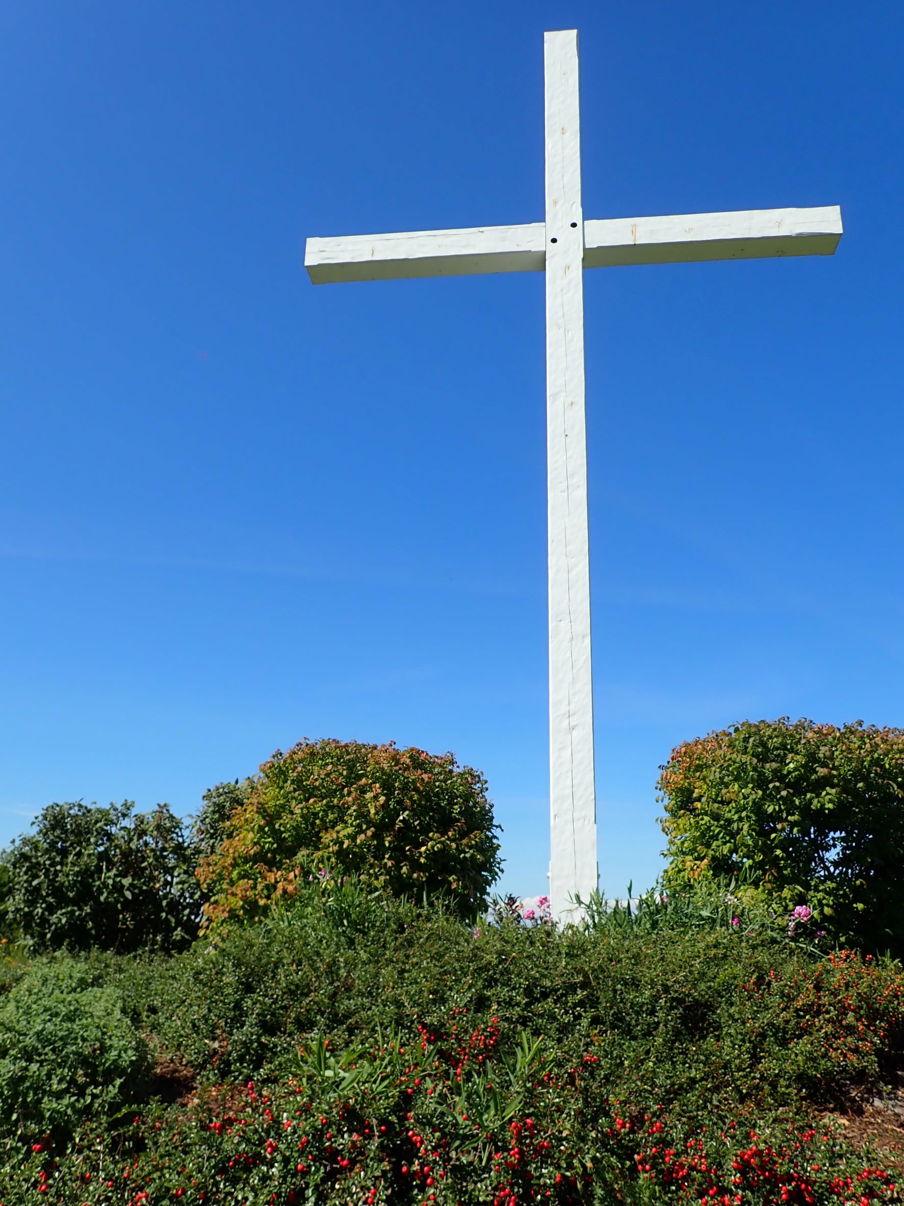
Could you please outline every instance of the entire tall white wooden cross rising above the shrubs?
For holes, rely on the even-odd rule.
[[[315,285],[546,271],[550,555],[550,897],[568,917],[597,888],[582,269],[830,256],[837,205],[585,221],[577,31],[545,35],[546,219],[465,230],[309,239]]]

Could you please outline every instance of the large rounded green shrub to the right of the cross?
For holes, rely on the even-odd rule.
[[[745,721],[675,749],[659,789],[667,886],[741,877],[794,927],[904,953],[904,731]]]

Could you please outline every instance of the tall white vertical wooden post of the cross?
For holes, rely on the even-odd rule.
[[[577,31],[545,35],[550,904],[597,888]]]

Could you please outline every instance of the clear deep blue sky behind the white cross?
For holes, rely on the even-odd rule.
[[[548,859],[536,274],[313,288],[309,234],[840,204],[838,254],[586,277],[600,871],[744,718],[904,725],[904,5],[0,13],[0,841],[301,736],[453,750]]]

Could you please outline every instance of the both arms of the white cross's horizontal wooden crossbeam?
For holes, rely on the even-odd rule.
[[[583,267],[830,256],[840,238],[838,205],[603,218],[583,224]],[[539,273],[545,267],[544,222],[309,239],[305,247],[305,268],[315,285]]]

